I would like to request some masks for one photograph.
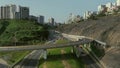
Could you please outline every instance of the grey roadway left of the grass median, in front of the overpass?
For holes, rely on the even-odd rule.
[[[34,50],[14,68],[37,68],[42,50]]]

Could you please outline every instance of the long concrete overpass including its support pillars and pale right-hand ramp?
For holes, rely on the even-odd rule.
[[[80,57],[80,49],[79,46],[90,46],[91,44],[95,45],[106,45],[105,43],[94,40],[84,36],[74,36],[62,34],[64,38],[71,39],[71,42],[65,44],[44,44],[44,45],[27,45],[27,46],[5,46],[0,47],[0,51],[23,51],[23,50],[42,50],[43,58],[47,59],[47,49],[52,48],[63,48],[63,47],[73,47],[73,51],[75,52],[77,57]],[[72,41],[74,40],[74,41]],[[76,50],[74,50],[76,49]]]

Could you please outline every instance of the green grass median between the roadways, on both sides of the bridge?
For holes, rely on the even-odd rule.
[[[57,40],[56,43],[62,44],[67,40]],[[65,53],[62,54],[61,50]],[[84,63],[71,53],[72,47],[48,49],[47,60],[41,59],[39,68],[64,68],[63,60],[66,61],[71,68],[84,68]]]

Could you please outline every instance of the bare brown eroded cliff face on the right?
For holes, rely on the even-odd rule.
[[[57,30],[68,34],[92,37],[106,42],[110,46],[120,45],[120,15],[63,25]]]

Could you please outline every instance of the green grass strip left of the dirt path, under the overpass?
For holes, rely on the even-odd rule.
[[[61,49],[49,49],[48,50],[48,59],[44,60],[43,58],[40,60],[40,66],[39,68],[43,68],[44,67],[44,63],[46,64],[47,68],[63,68],[63,64],[61,62],[61,60],[59,60],[60,56],[59,54]]]

